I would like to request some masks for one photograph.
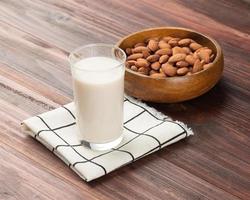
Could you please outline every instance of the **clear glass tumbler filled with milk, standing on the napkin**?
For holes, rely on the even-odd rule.
[[[93,150],[122,140],[125,60],[122,49],[108,44],[86,45],[69,56],[77,135]]]

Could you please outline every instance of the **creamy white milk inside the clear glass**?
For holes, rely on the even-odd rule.
[[[123,130],[124,67],[108,57],[90,57],[73,66],[79,139],[107,143]]]

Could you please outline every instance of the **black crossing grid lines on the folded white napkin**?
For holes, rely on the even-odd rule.
[[[168,118],[159,118],[157,116],[155,116],[154,113],[152,113],[150,111],[150,109],[147,109],[146,107],[144,107],[143,105],[141,104],[137,104],[136,102],[134,102],[133,100],[129,99],[129,98],[125,98],[124,99],[124,102],[128,102],[134,106],[137,106],[137,107],[140,107],[142,109],[141,112],[139,112],[138,114],[134,115],[132,118],[128,119],[127,121],[124,122],[124,129],[129,131],[131,134],[134,134],[134,136],[128,140],[127,142],[121,144],[120,146],[118,146],[117,148],[113,148],[111,149],[110,151],[106,151],[106,152],[103,152],[103,153],[99,153],[98,155],[96,156],[93,156],[91,158],[87,158],[85,155],[83,155],[82,153],[80,153],[78,151],[78,147],[83,147],[83,144],[69,144],[60,134],[57,133],[58,130],[62,130],[62,129],[66,129],[67,127],[71,127],[71,126],[76,126],[76,122],[75,122],[75,115],[73,114],[73,112],[67,108],[66,106],[62,106],[62,108],[68,113],[68,115],[70,115],[72,117],[72,122],[69,123],[69,124],[65,124],[65,125],[62,125],[62,126],[59,126],[59,127],[56,127],[56,128],[51,128],[48,124],[48,122],[45,121],[45,119],[40,115],[40,116],[36,116],[48,129],[44,129],[44,130],[39,130],[35,135],[34,137],[37,138],[40,136],[41,133],[43,134],[46,134],[46,132],[50,132],[50,133],[53,133],[56,137],[58,137],[60,139],[60,141],[62,141],[63,144],[57,144],[56,146],[53,146],[53,149],[52,151],[57,153],[58,149],[59,148],[70,148],[71,150],[73,150],[79,157],[81,157],[82,160],[80,161],[76,161],[74,163],[69,163],[69,167],[70,168],[75,168],[76,165],[78,164],[83,164],[83,163],[92,163],[93,165],[97,166],[98,168],[102,169],[103,171],[103,175],[107,174],[109,171],[105,168],[105,166],[103,166],[102,164],[98,163],[96,160],[100,157],[103,157],[105,155],[108,155],[108,154],[111,154],[112,152],[121,152],[121,153],[124,153],[126,155],[128,155],[130,157],[130,161],[129,162],[126,162],[124,163],[123,165],[127,164],[127,163],[130,163],[130,162],[134,162],[135,160],[138,160],[156,150],[159,150],[161,149],[164,145],[166,145],[167,143],[179,138],[179,137],[183,137],[183,135],[185,135],[185,137],[188,136],[188,133],[187,133],[187,130],[181,125],[179,124],[178,122],[175,122],[175,121],[172,121]],[[131,121],[135,120],[136,118],[138,118],[139,116],[141,116],[142,114],[144,113],[147,113],[149,114],[151,117],[153,117],[158,123],[155,124],[154,126],[151,126],[149,128],[147,128],[145,131],[143,132],[137,132],[137,131],[134,131],[130,128],[127,127],[127,124],[129,124]],[[164,123],[173,123],[177,126],[179,126],[181,128],[181,132],[176,134],[173,138],[170,138],[166,141],[160,141],[159,139],[157,139],[156,137],[154,137],[153,135],[150,135],[148,134],[148,132]],[[167,132],[167,130],[166,130]],[[167,133],[166,133],[167,134]],[[126,147],[126,145],[130,144],[132,141],[134,140],[137,140],[138,138],[140,137],[148,137],[150,138],[151,140],[153,140],[155,143],[157,143],[157,146],[151,148],[150,150],[144,152],[143,154],[141,154],[140,156],[135,156],[133,155],[132,152],[128,151],[128,150],[124,150],[124,149],[121,149],[121,148],[124,148]],[[38,138],[37,138],[38,139]]]

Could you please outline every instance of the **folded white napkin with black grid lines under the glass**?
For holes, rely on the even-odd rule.
[[[93,151],[79,143],[74,113],[74,104],[70,103],[25,120],[22,128],[85,181],[101,177],[193,134],[183,123],[126,97],[122,143],[112,150]]]

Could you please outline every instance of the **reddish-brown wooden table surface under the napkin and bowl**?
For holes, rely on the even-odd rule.
[[[214,37],[222,80],[207,94],[152,105],[195,135],[91,183],[20,130],[72,101],[68,53],[143,28]],[[250,199],[250,4],[194,1],[0,1],[0,199]]]

